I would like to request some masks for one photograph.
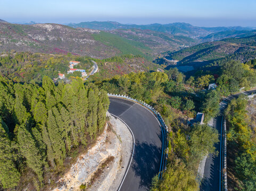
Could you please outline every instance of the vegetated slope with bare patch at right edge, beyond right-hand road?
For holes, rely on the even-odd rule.
[[[247,101],[244,97],[232,100],[226,116],[230,148],[228,173],[235,177],[229,177],[230,188],[253,191],[256,187],[255,100]],[[238,179],[238,184],[234,185],[234,179]]]

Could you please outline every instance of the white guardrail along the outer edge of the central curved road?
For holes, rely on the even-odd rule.
[[[130,98],[127,95],[121,95],[121,94],[108,93],[108,96],[109,97],[121,98],[121,99],[127,99],[127,100],[130,100],[130,101],[136,102],[139,105],[141,105],[141,106],[145,107],[146,109],[150,110],[155,115],[155,117],[158,119],[158,121],[160,123],[160,126],[161,126],[161,131],[163,133],[162,157],[161,157],[161,164],[160,164],[160,170],[159,170],[159,176],[158,176],[158,178],[161,178],[161,172],[166,169],[166,151],[167,151],[167,146],[168,146],[167,141],[166,141],[166,137],[167,137],[167,133],[168,133],[168,127],[164,123],[164,120],[163,120],[162,116],[152,106],[148,105],[147,103],[145,103],[141,100],[138,101],[136,99]]]

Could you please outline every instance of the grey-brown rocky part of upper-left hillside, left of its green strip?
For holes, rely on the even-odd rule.
[[[118,54],[94,40],[97,30],[73,29],[60,24],[21,25],[0,23],[0,51],[72,53],[104,58]]]

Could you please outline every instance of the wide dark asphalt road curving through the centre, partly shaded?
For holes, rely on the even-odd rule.
[[[135,137],[134,156],[120,190],[149,190],[161,162],[162,132],[158,120],[144,107],[118,98],[110,97],[109,112],[125,121]]]

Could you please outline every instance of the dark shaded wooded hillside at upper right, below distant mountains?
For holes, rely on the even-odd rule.
[[[229,60],[246,62],[256,58],[256,36],[227,38],[222,41],[205,42],[175,52],[168,52],[166,59],[178,60],[177,66],[192,66],[192,70],[211,70]],[[168,62],[159,58],[156,63],[168,68]],[[214,68],[214,67],[213,67]]]

